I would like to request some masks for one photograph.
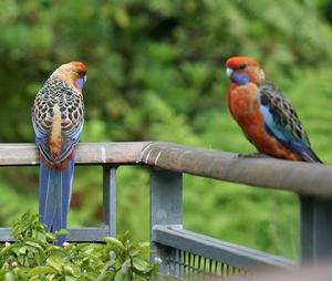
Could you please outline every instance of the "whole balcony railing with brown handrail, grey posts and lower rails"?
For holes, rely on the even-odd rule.
[[[97,241],[116,233],[116,168],[151,170],[151,240],[160,273],[183,280],[252,274],[258,268],[293,268],[297,262],[183,228],[183,174],[283,189],[301,201],[301,260],[332,256],[332,167],[238,157],[237,154],[159,142],[80,144],[76,165],[103,166],[103,226],[70,229],[70,241]],[[39,165],[34,144],[1,144],[0,166]],[[10,229],[0,228],[0,241]]]

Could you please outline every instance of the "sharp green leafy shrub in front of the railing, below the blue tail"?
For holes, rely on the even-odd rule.
[[[24,214],[13,225],[14,243],[0,248],[0,279],[11,280],[149,280],[158,263],[145,259],[149,243],[134,243],[128,232],[104,243],[53,244],[38,215]],[[56,235],[63,235],[59,231]]]

